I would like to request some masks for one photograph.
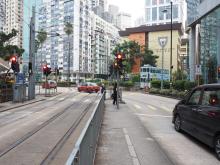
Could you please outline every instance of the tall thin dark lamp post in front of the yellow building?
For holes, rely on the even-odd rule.
[[[170,1],[170,12],[171,12],[171,23],[170,23],[170,82],[173,81],[172,79],[172,58],[173,58],[173,2]]]

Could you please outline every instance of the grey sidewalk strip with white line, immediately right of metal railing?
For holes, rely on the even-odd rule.
[[[95,165],[173,164],[127,104],[106,100]]]

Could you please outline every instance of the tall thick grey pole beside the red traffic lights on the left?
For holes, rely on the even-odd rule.
[[[28,100],[35,99],[35,7],[32,8],[30,22],[29,62],[32,63],[32,73],[29,74]]]

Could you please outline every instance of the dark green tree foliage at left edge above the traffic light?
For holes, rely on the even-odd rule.
[[[10,45],[10,40],[17,36],[18,32],[12,29],[12,32],[5,34],[0,32],[0,57],[8,61],[12,54],[16,53],[20,57],[24,53],[24,49],[19,48],[16,45]]]

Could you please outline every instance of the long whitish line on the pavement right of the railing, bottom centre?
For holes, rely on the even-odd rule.
[[[140,162],[137,158],[137,154],[135,152],[135,149],[134,149],[134,146],[131,142],[131,139],[128,135],[128,131],[126,128],[123,128],[123,132],[124,132],[124,135],[125,135],[125,140],[126,140],[126,143],[128,145],[128,150],[129,150],[129,153],[130,153],[130,156],[132,157],[132,162],[133,162],[133,165],[140,165]]]

